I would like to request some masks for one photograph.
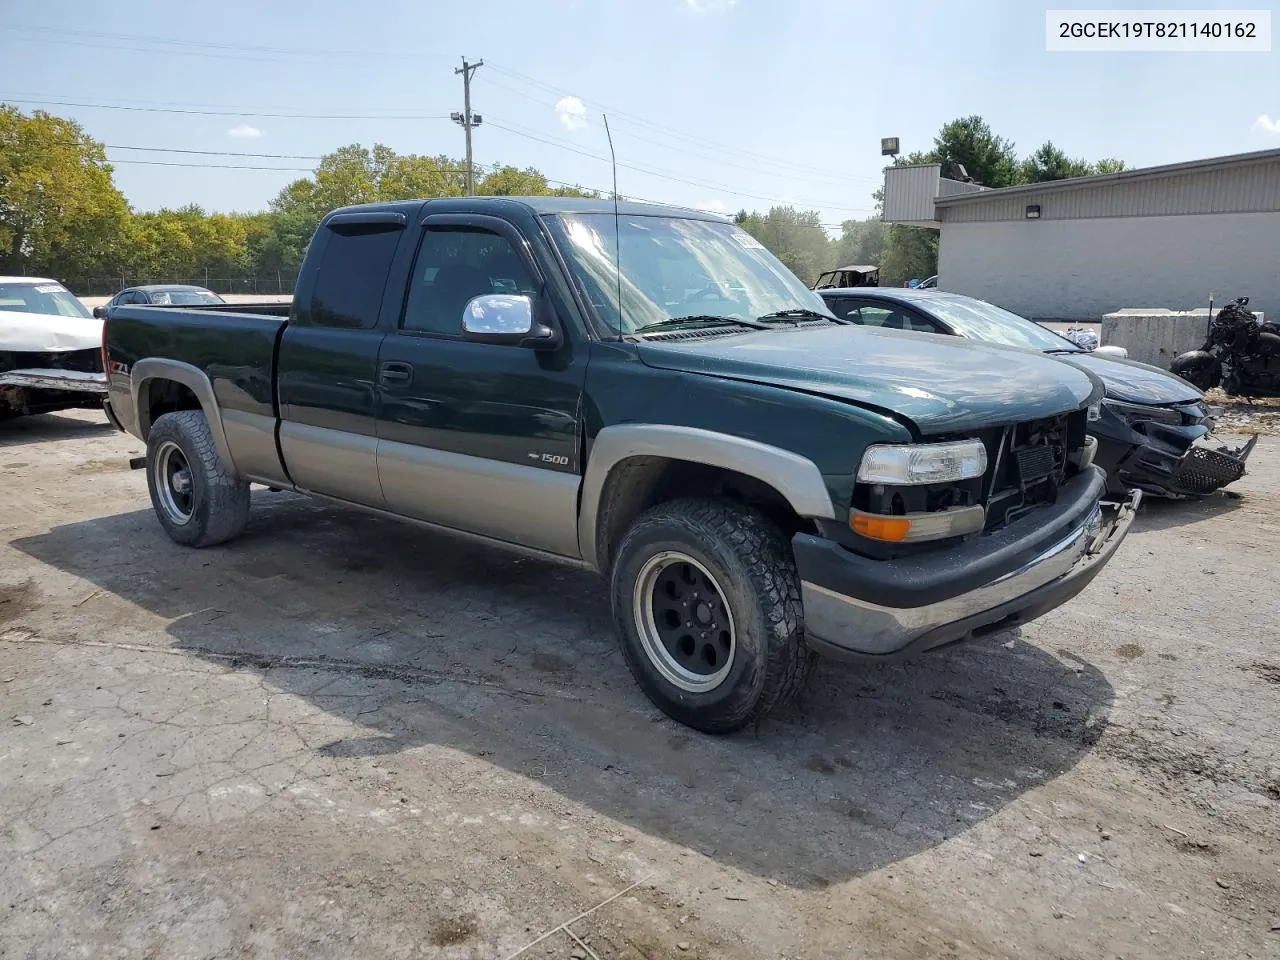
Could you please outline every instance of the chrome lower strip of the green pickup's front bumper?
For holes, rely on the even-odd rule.
[[[1124,540],[1142,492],[1100,503],[1068,536],[997,580],[940,603],[882,607],[801,581],[805,634],[835,657],[888,658],[1034,620],[1089,585]],[[1107,516],[1114,511],[1114,516]]]

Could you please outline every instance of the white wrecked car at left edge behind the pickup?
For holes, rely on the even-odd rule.
[[[58,280],[0,276],[0,420],[105,397],[102,321]]]

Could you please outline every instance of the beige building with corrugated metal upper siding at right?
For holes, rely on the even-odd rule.
[[[940,289],[1037,320],[1211,293],[1280,315],[1280,150],[1002,189],[891,166],[884,220],[941,230]]]

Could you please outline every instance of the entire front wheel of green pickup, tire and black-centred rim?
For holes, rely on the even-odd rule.
[[[742,504],[685,499],[641,515],[618,547],[612,600],[631,673],[681,723],[731,733],[804,685],[790,544]]]

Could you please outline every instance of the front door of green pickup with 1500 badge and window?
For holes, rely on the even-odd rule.
[[[472,297],[541,289],[506,220],[426,218],[378,355],[378,475],[397,513],[576,557],[586,352],[462,338]]]

